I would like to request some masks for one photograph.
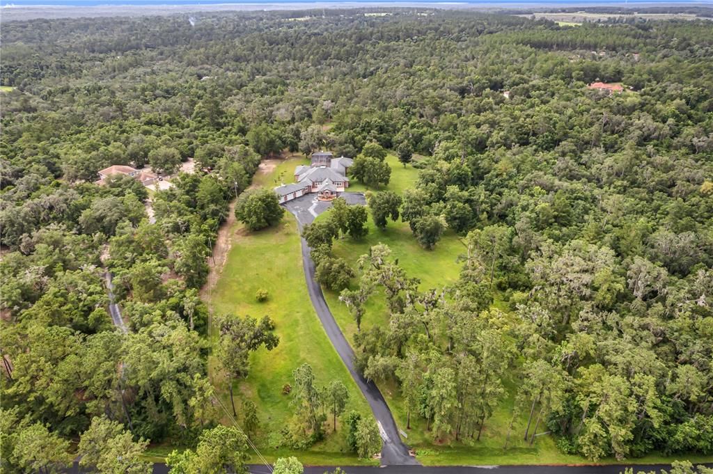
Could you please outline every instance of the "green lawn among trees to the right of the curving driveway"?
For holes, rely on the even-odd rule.
[[[328,213],[319,218],[327,218]],[[377,243],[388,244],[392,256],[399,259],[399,264],[404,267],[409,277],[421,279],[421,289],[441,287],[444,284],[455,282],[461,264],[456,262],[465,248],[458,236],[447,232],[434,250],[424,250],[416,243],[407,224],[402,222],[392,223],[385,231],[377,230],[369,221],[369,234],[362,241],[354,241],[346,237],[334,243],[333,253],[347,260],[352,265],[361,254],[368,251],[371,245]],[[356,333],[356,324],[347,311],[346,306],[339,302],[338,295],[324,289],[324,295],[332,309],[337,323],[342,328],[347,339],[353,341]],[[494,306],[503,306],[498,301]],[[383,294],[375,294],[366,304],[366,315],[361,323],[362,329],[374,324],[386,325],[389,323],[389,314]],[[394,419],[399,428],[406,429],[406,409],[399,394],[399,389],[394,382],[379,383],[381,393],[384,394],[389,408],[394,414]],[[416,449],[417,456],[425,465],[505,465],[505,464],[584,464],[588,460],[579,456],[560,453],[555,444],[555,439],[550,436],[538,436],[534,445],[523,440],[527,413],[522,413],[515,423],[510,436],[508,449],[503,446],[508,433],[508,426],[512,418],[512,407],[517,390],[515,383],[508,382],[508,396],[503,400],[493,416],[486,421],[486,426],[480,441],[474,438],[448,440],[443,444],[435,444],[431,433],[426,431],[426,422],[413,415],[411,416],[411,429],[407,431],[408,438],[404,438],[412,448]],[[545,431],[540,427],[538,432]],[[680,459],[681,457],[679,457]],[[703,456],[689,458],[692,462],[710,462],[712,459]],[[646,458],[632,459],[635,463],[670,463],[676,458],[663,458],[661,456],[647,456]],[[614,458],[602,460],[601,463],[620,463]]]

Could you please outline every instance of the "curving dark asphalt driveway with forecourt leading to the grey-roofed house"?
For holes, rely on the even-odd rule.
[[[361,193],[344,192],[342,193],[342,197],[344,197],[349,204],[366,203],[364,195]],[[304,225],[314,221],[314,217],[317,217],[321,212],[327,210],[330,205],[331,203],[329,202],[319,202],[313,200],[311,195],[306,195],[287,202],[285,207],[297,218],[297,227],[299,230],[302,230]],[[312,258],[309,257],[309,246],[304,239],[302,239],[302,264],[304,266],[304,276],[307,279],[309,299],[312,300],[314,311],[317,311],[319,321],[322,321],[322,326],[329,340],[332,341],[332,346],[334,346],[334,349],[337,350],[337,354],[339,354],[339,357],[344,361],[344,365],[347,366],[349,373],[352,374],[352,378],[354,378],[356,385],[359,386],[361,393],[364,393],[364,397],[366,401],[369,402],[371,411],[374,412],[374,418],[376,418],[376,422],[379,424],[381,439],[384,440],[383,448],[381,448],[381,464],[418,465],[419,462],[409,453],[409,447],[401,441],[394,417],[391,416],[389,406],[386,405],[384,396],[381,395],[379,388],[376,387],[374,382],[366,381],[366,379],[354,369],[354,351],[352,350],[352,346],[349,345],[349,342],[347,342],[347,338],[344,337],[344,334],[342,334],[342,331],[339,329],[337,321],[334,320],[332,311],[329,311],[327,302],[324,301],[322,288],[319,286],[319,283],[317,283],[317,279],[314,278],[314,262],[312,262]]]

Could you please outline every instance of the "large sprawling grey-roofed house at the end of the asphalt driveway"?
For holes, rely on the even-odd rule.
[[[310,192],[316,192],[320,200],[333,200],[340,192],[344,192],[344,188],[349,187],[347,170],[352,163],[352,158],[333,158],[329,152],[312,153],[309,166],[299,165],[294,169],[296,182],[275,188],[279,202],[291,201]]]

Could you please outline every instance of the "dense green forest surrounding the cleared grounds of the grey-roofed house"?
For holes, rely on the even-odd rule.
[[[397,380],[434,438],[478,436],[514,376],[525,437],[546,425],[563,452],[713,453],[709,21],[35,20],[3,24],[2,61],[4,468],[78,449],[141,472],[148,440],[200,452],[206,428],[235,438],[214,428],[198,296],[228,203],[262,157],[374,144],[418,155],[418,186],[391,202],[419,242],[448,228],[468,244],[451,287],[416,291],[385,248],[359,274],[384,287],[391,320],[357,336],[359,366]],[[94,183],[109,165],[170,173],[188,158],[197,172],[169,190]],[[225,331],[279,344],[256,324]],[[231,348],[235,373],[257,345]]]

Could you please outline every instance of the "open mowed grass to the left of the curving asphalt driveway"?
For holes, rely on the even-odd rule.
[[[255,181],[258,185],[272,186],[279,173],[287,171],[291,176],[294,166],[301,160],[285,160],[270,173],[257,175]],[[314,313],[304,282],[294,217],[286,213],[278,226],[260,232],[248,232],[238,223],[230,232],[232,247],[207,304],[213,314],[250,315],[258,319],[267,314],[275,321],[275,332],[280,339],[272,351],[260,349],[252,354],[250,375],[234,385],[239,423],[242,423],[242,400],[252,400],[260,417],[260,430],[254,441],[268,460],[295,455],[305,464],[365,463],[348,452],[341,426],[337,427],[337,433],[331,434],[332,418],[327,423],[327,438],[310,450],[297,452],[275,448],[272,433],[279,433],[287,426],[294,413],[290,405],[294,394],[283,395],[282,387],[285,383],[294,385],[292,371],[305,362],[312,366],[319,385],[333,380],[344,382],[350,394],[347,411],[366,414],[369,406]],[[269,292],[267,302],[256,301],[258,289]],[[215,328],[210,339],[211,345],[215,346]],[[222,375],[215,356],[210,357],[209,368],[221,401],[230,410],[229,382]],[[230,423],[230,417],[225,416],[224,423]]]

